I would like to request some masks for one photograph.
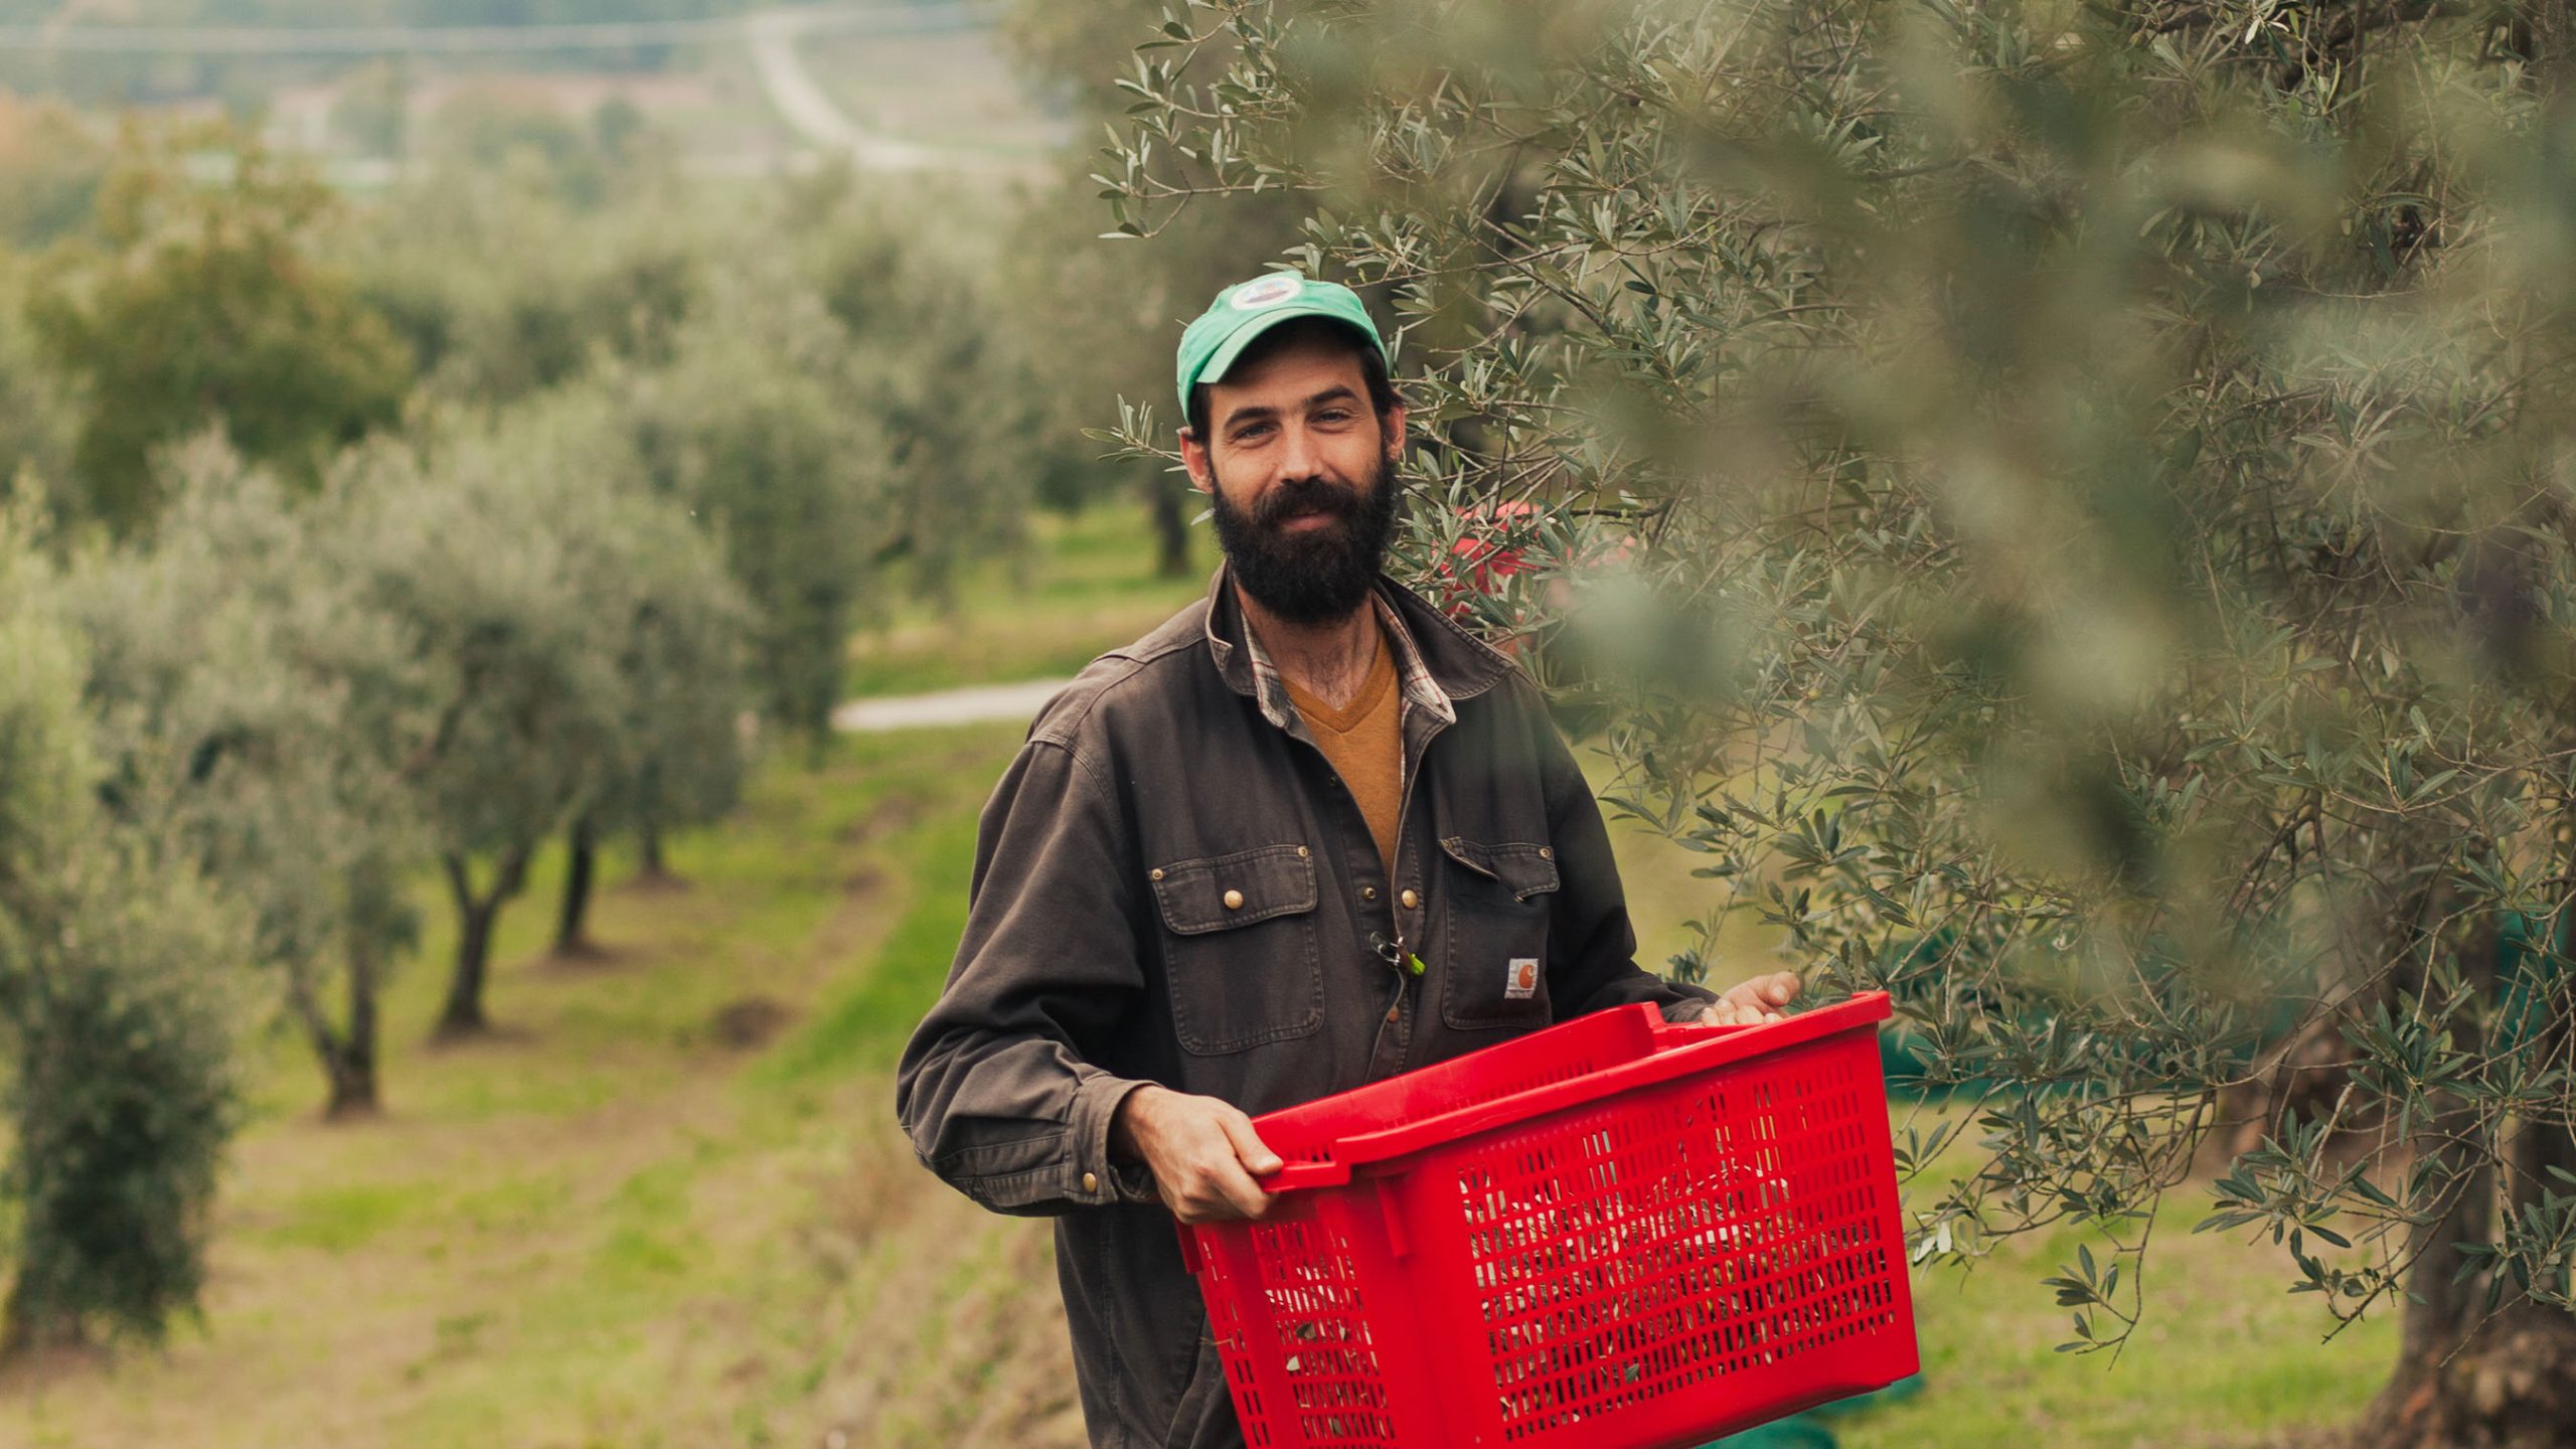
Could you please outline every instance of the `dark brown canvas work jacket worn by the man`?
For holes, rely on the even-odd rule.
[[[966,1196],[1054,1214],[1095,1449],[1242,1444],[1172,1214],[1108,1150],[1128,1091],[1262,1114],[1587,1011],[1708,1000],[1636,967],[1600,807],[1528,676],[1394,583],[1381,619],[1404,681],[1391,877],[1226,570],[1082,670],[984,807],[896,1114]],[[1528,995],[1515,959],[1543,962]]]

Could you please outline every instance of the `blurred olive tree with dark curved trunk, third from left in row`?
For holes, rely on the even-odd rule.
[[[690,743],[724,750],[690,768],[739,773],[737,737],[703,714],[639,719],[649,701],[631,691],[662,686],[659,652],[677,637],[719,663],[737,603],[714,544],[636,477],[605,402],[572,394],[443,420],[415,443],[355,454],[335,480],[345,516],[327,549],[397,627],[399,768],[459,913],[446,1034],[489,1026],[492,923],[546,835],[616,786],[631,810],[721,794],[634,794],[636,771],[680,763],[672,750]],[[693,709],[729,719],[724,683],[708,673]]]

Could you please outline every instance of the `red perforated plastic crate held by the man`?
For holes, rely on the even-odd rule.
[[[1886,993],[1605,1011],[1257,1119],[1182,1230],[1255,1449],[1682,1449],[1917,1369]]]

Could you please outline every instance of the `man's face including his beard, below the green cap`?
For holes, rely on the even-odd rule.
[[[1386,559],[1401,446],[1404,410],[1378,423],[1358,353],[1306,335],[1211,384],[1208,436],[1185,436],[1182,456],[1244,593],[1288,624],[1329,624]]]

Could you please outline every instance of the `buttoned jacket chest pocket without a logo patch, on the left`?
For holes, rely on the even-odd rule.
[[[1157,866],[1151,882],[1182,1049],[1242,1052],[1309,1036],[1324,1024],[1306,846],[1172,861]]]

